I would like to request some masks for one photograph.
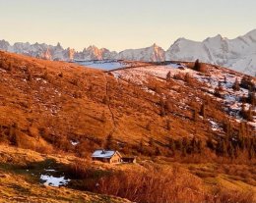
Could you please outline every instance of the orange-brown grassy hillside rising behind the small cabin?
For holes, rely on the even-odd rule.
[[[255,134],[255,120],[249,123],[225,111],[225,101],[211,92],[216,89],[200,80],[242,77],[214,66],[196,76],[170,69],[166,80],[164,71],[158,72],[165,68],[154,65],[104,73],[4,52],[0,61],[1,139],[21,147],[91,152],[107,144],[108,137],[114,148],[154,145],[164,151],[170,139],[183,137],[205,145],[209,138],[224,136],[228,125],[239,131],[244,124],[246,136]],[[73,139],[80,142],[77,147]]]

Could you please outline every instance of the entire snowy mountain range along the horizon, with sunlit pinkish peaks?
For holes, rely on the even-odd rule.
[[[15,43],[0,40],[0,50],[25,54],[46,60],[90,61],[90,60],[131,60],[145,62],[195,61],[216,64],[226,68],[256,76],[256,29],[234,39],[222,35],[209,37],[202,42],[185,38],[177,39],[166,51],[154,44],[142,49],[127,49],[119,53],[105,48],[90,46],[78,52],[64,49],[60,43],[56,46],[34,43]]]

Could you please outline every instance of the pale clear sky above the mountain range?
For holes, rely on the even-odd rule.
[[[120,51],[256,28],[255,0],[0,0],[0,39]]]

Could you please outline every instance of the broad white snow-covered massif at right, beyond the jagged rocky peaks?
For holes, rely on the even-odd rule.
[[[180,38],[165,53],[166,60],[216,64],[250,76],[256,75],[256,29],[234,39],[218,34],[202,42]]]

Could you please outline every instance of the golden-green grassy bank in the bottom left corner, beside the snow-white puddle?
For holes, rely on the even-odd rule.
[[[38,183],[38,177],[46,173],[47,167],[63,169],[74,161],[76,158],[73,156],[44,155],[0,145],[0,202],[130,202],[118,197]]]

